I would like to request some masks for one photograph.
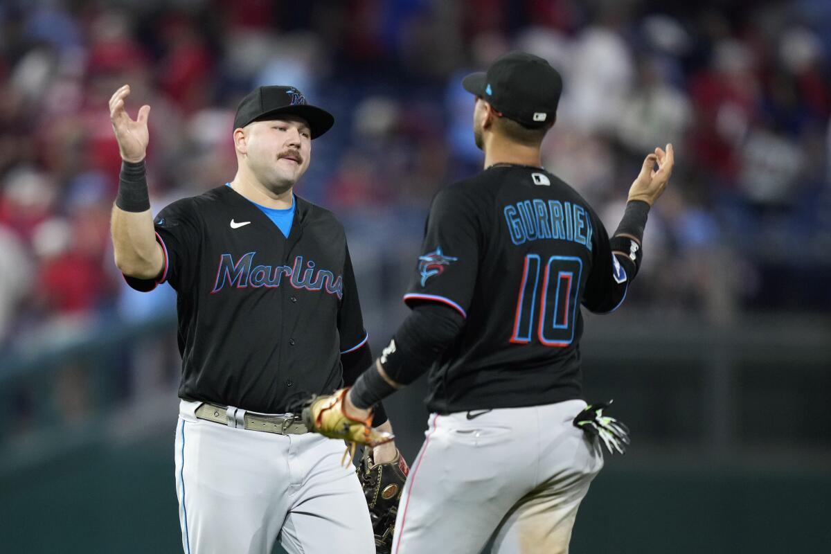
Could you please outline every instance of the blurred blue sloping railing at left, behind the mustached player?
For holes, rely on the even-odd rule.
[[[171,336],[175,314],[110,321],[69,343],[3,356],[0,478],[103,439],[103,422],[135,396],[136,359],[143,355],[136,350],[170,351]],[[167,357],[170,364],[176,356]]]

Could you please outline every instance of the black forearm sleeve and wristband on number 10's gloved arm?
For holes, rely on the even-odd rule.
[[[460,313],[444,304],[416,306],[381,354],[384,373],[396,383],[409,385],[430,368],[464,325]],[[366,408],[395,390],[373,366],[356,380],[352,401],[358,408]]]

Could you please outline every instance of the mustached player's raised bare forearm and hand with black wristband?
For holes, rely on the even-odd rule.
[[[128,277],[153,279],[165,266],[162,248],[155,239],[153,214],[145,178],[145,153],[150,141],[143,105],[135,120],[125,109],[130,86],[122,86],[110,99],[110,120],[121,154],[118,196],[112,208],[111,234],[116,267]]]

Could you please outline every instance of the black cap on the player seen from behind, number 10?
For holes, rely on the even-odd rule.
[[[554,120],[563,77],[539,56],[510,52],[494,61],[488,71],[466,76],[462,86],[505,117],[538,128]]]

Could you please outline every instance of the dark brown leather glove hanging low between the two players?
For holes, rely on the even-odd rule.
[[[387,463],[374,463],[370,448],[364,449],[361,465],[358,468],[358,480],[366,496],[369,515],[372,520],[372,532],[375,533],[376,554],[390,554],[392,534],[396,529],[396,516],[404,482],[410,473],[401,453]]]

